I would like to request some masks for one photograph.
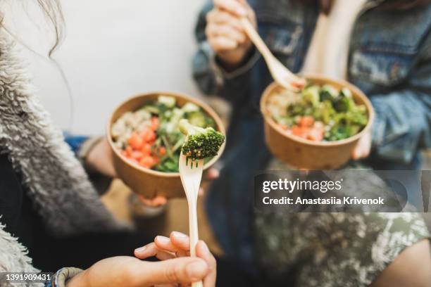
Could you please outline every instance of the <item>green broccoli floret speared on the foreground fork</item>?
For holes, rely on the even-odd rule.
[[[201,160],[217,155],[225,136],[212,127],[203,129],[191,125],[187,120],[180,120],[180,131],[187,136],[181,148],[182,154],[191,160]]]

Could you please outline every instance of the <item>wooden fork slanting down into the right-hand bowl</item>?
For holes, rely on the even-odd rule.
[[[289,89],[292,91],[299,91],[301,87],[304,87],[306,81],[304,78],[296,76],[293,72],[283,65],[280,60],[277,60],[273,53],[271,53],[268,46],[266,46],[263,39],[258,34],[256,29],[254,29],[253,25],[251,25],[249,19],[242,18],[241,19],[242,27],[246,34],[251,39],[251,42],[254,43],[259,52],[261,52],[263,58],[266,61],[266,65],[268,65],[268,69],[270,70],[271,75],[275,79],[275,82],[280,84],[280,86],[285,89]]]

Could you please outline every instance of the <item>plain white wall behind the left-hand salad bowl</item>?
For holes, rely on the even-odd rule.
[[[50,28],[28,0],[20,5],[16,3],[21,1],[13,1],[2,8],[8,11],[6,25],[42,55],[24,49],[44,105],[58,125],[68,128],[67,89],[55,64],[46,59]],[[204,0],[63,0],[62,4],[66,37],[54,59],[72,91],[73,132],[103,133],[113,108],[140,92],[199,95],[191,58],[196,51],[196,16]]]

